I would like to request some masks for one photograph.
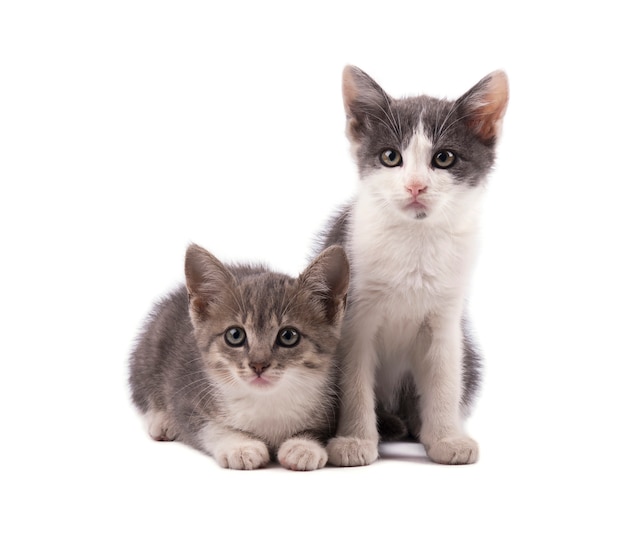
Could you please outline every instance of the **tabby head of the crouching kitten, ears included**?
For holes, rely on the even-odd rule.
[[[341,247],[323,251],[294,279],[262,268],[229,268],[191,245],[185,274],[198,348],[220,387],[262,393],[327,382],[348,289]]]

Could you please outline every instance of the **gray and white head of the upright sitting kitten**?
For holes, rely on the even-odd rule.
[[[348,66],[343,98],[346,133],[370,197],[402,217],[450,219],[472,202],[493,165],[508,82],[496,71],[455,101],[394,99]]]

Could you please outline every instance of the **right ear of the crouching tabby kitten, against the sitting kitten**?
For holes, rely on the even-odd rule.
[[[329,323],[343,318],[350,281],[350,266],[343,248],[333,245],[325,249],[298,279],[324,307]]]

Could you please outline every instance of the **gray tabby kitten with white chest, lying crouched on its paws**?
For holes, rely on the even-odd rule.
[[[225,266],[187,249],[186,287],[153,310],[130,359],[132,398],[156,440],[222,467],[271,458],[323,467],[336,428],[337,362],[349,267],[339,246],[297,278]]]

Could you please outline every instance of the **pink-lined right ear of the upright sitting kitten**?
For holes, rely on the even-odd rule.
[[[506,74],[497,70],[485,76],[458,100],[467,124],[485,142],[500,135],[502,119],[509,102]]]

